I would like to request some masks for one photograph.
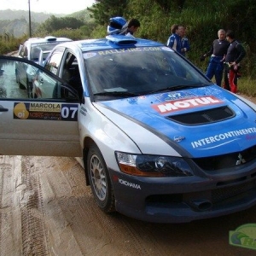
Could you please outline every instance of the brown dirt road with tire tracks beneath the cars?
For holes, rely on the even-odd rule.
[[[229,231],[256,223],[253,207],[190,224],[106,215],[73,158],[0,156],[0,255],[255,255]]]

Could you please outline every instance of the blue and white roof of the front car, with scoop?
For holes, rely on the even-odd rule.
[[[129,47],[159,47],[164,46],[159,42],[142,38],[131,38],[127,36],[107,36],[100,39],[85,39],[73,42],[58,44],[56,47],[67,47],[70,49],[80,49],[82,52],[100,49],[122,49]]]

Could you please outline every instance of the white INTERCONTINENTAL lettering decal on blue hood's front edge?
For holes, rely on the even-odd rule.
[[[255,138],[256,128],[249,127],[240,130],[226,131],[220,134],[213,135],[211,137],[205,137],[201,138],[200,140],[191,142],[191,146],[192,148],[203,148],[204,146],[207,146],[208,148],[210,144],[213,143],[218,143],[218,146],[220,146],[223,143],[230,143],[243,135],[245,135],[246,139],[252,139],[252,137]]]

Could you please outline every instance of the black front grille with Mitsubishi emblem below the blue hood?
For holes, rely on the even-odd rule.
[[[256,159],[256,146],[247,148],[241,152],[195,158],[193,160],[197,166],[200,166],[205,171],[218,171],[220,169],[242,165],[254,159]]]

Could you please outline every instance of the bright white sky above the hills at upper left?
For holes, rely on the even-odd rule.
[[[94,0],[0,0],[0,10],[30,10],[36,13],[70,15],[92,6]]]

